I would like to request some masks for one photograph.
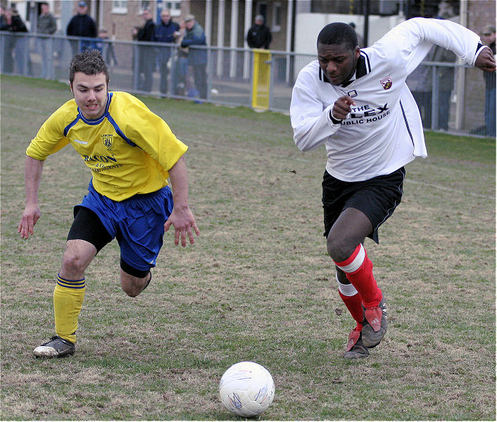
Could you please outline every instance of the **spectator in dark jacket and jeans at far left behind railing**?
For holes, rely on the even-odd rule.
[[[4,30],[9,32],[27,32],[26,25],[24,25],[23,20],[18,15],[18,11],[15,8],[11,8],[4,12],[5,26]],[[13,72],[13,53],[15,51],[15,65],[17,66],[16,72],[18,74],[24,73],[24,54],[26,40],[24,37],[8,36],[5,37],[4,44],[4,72]]]

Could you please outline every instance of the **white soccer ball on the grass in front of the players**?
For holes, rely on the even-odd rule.
[[[275,398],[275,383],[268,369],[255,362],[229,366],[219,383],[223,406],[237,416],[262,414]]]

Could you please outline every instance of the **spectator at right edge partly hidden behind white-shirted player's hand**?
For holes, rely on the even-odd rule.
[[[486,25],[483,30],[482,42],[489,46],[493,56],[496,55],[496,27],[494,25]],[[470,133],[496,136],[496,77],[494,73],[484,72],[485,79],[485,124],[477,129],[473,129]]]

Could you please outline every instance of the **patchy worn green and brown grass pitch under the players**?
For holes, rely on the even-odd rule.
[[[67,87],[1,79],[2,420],[239,420],[218,400],[235,362],[263,364],[265,420],[496,419],[495,140],[427,134],[405,195],[366,242],[389,308],[368,359],[342,358],[353,320],[322,237],[325,151],[301,153],[289,117],[144,98],[189,145],[196,245],[172,231],[149,288],[128,298],[113,241],[87,269],[77,352],[35,359],[72,207],[90,172],[47,159],[42,218],[23,241],[25,148]]]

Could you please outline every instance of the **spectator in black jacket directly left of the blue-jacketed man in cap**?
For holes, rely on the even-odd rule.
[[[144,9],[141,17],[144,18],[144,25],[138,30],[137,41],[153,41],[156,25],[152,20],[152,12]],[[139,84],[138,89],[141,91],[151,91],[153,71],[156,68],[156,55],[152,46],[138,46],[138,67],[139,67]]]

